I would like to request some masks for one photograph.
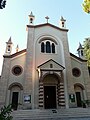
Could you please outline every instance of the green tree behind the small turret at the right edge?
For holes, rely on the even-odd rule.
[[[84,55],[87,59],[87,65],[90,67],[90,38],[86,38],[84,41]]]

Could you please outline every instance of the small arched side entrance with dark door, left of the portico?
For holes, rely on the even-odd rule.
[[[10,90],[10,104],[12,105],[13,110],[17,110],[18,105],[21,104],[21,96],[23,87],[19,83],[13,83],[9,87]]]

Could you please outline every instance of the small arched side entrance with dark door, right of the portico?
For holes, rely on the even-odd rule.
[[[82,101],[84,100],[84,87],[81,84],[74,85],[75,95],[76,95],[76,103],[77,107],[82,107]]]

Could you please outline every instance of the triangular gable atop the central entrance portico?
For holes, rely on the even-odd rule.
[[[65,67],[63,67],[62,65],[60,65],[59,63],[57,63],[56,61],[54,61],[52,59],[39,65],[38,68],[40,68],[42,70],[44,70],[44,69],[45,70],[63,70],[63,69],[65,69]]]

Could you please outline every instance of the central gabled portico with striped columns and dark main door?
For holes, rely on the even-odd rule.
[[[65,108],[64,69],[52,59],[38,66],[39,108]]]

